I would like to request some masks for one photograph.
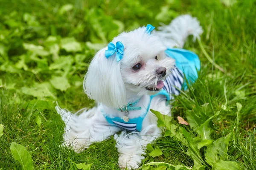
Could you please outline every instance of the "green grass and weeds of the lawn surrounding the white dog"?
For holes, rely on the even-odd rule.
[[[189,38],[184,48],[198,54],[201,71],[195,84],[175,97],[172,124],[184,127],[195,142],[199,134],[190,119],[196,118],[195,122],[201,125],[220,111],[209,122],[210,138],[214,141],[232,133],[226,160],[239,162],[244,169],[256,170],[256,1],[236,0],[232,5],[227,5],[228,0],[221,2],[2,0],[0,124],[4,125],[4,130],[0,136],[0,169],[21,168],[10,151],[12,142],[26,147],[38,170],[76,169],[71,161],[91,163],[95,170],[118,169],[113,138],[92,144],[79,154],[61,145],[64,123],[54,110],[55,101],[70,111],[93,107],[94,102],[83,94],[81,82],[96,49],[120,31],[147,23],[157,27],[159,22],[167,24],[174,17],[189,13],[198,18],[204,34],[201,36],[202,47]],[[67,3],[73,4],[73,9],[60,13],[61,6]],[[168,11],[161,11],[163,6],[167,6]],[[30,14],[28,18],[24,17],[25,13]],[[49,35],[56,40],[46,41]],[[74,37],[76,41],[72,42],[79,43],[81,50],[76,47],[68,51],[61,47],[64,37]],[[41,45],[44,51],[26,48],[24,43]],[[49,52],[53,45],[60,48],[55,54]],[[209,62],[204,50],[224,72]],[[49,55],[44,55],[45,51]],[[68,55],[71,56],[70,62],[60,65],[58,59],[63,63],[67,58],[62,56]],[[54,64],[58,68],[51,69]],[[56,76],[64,77],[67,87],[72,88],[49,84]],[[38,96],[40,89],[32,91],[35,83],[42,84],[43,91],[48,89],[49,93]],[[177,116],[186,119],[190,126],[179,125]],[[153,158],[146,150],[143,164],[162,161],[188,167],[194,165],[193,157],[186,154],[191,146],[183,145],[177,136],[162,137],[152,146],[159,148],[163,155]],[[205,169],[212,169],[205,160],[206,152],[207,146],[199,150],[201,164]]]

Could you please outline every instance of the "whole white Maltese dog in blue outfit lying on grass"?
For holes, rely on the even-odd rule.
[[[173,99],[170,94],[186,89],[183,78],[193,82],[200,68],[194,53],[179,49],[189,35],[196,39],[202,33],[196,18],[182,15],[160,31],[153,29],[148,25],[123,32],[96,53],[84,91],[98,105],[80,110],[79,115],[56,106],[66,124],[64,144],[79,153],[114,135],[119,167],[139,167],[145,145],[161,136],[150,109],[171,116],[166,102]]]

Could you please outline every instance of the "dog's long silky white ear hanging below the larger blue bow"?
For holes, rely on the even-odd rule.
[[[103,48],[96,53],[84,77],[84,92],[91,99],[111,108],[126,105],[125,84],[120,72],[121,61],[116,63],[116,55],[105,57]]]

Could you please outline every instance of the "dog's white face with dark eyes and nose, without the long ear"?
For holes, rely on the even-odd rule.
[[[124,43],[121,75],[125,88],[139,96],[154,94],[163,88],[163,80],[174,66],[167,58],[166,47],[158,37],[145,33],[143,28],[121,34],[113,42]]]

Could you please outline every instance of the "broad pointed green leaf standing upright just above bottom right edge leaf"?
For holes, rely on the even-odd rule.
[[[215,140],[212,145],[207,146],[207,150],[205,153],[205,160],[209,165],[212,167],[214,164],[219,161],[228,160],[227,157],[227,149],[230,140],[232,140],[232,133],[229,133],[227,136],[221,137],[217,140]]]

